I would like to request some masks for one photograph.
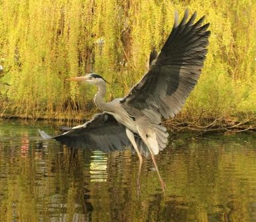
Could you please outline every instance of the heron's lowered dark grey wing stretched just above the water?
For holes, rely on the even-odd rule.
[[[65,128],[67,130],[69,128]],[[121,151],[132,148],[126,135],[126,129],[122,124],[116,122],[110,114],[97,114],[92,120],[83,125],[71,128],[61,135],[51,137],[44,131],[39,130],[44,139],[56,139],[69,147],[85,148],[90,150],[99,149],[105,153],[110,151]],[[140,137],[136,142],[142,153],[145,153],[146,145],[141,143]]]

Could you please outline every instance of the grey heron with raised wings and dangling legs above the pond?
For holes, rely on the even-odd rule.
[[[195,19],[196,12],[189,18],[186,9],[179,22],[175,11],[173,28],[161,52],[151,52],[148,71],[124,98],[106,102],[107,81],[97,73],[67,79],[96,85],[98,92],[94,101],[103,113],[62,135],[50,137],[39,131],[40,135],[69,143],[78,138],[87,139],[98,147],[108,144],[109,149],[130,143],[139,159],[138,178],[143,163],[142,150],[146,147],[164,191],[165,182],[155,161],[155,155],[167,146],[169,136],[162,120],[173,118],[181,110],[198,82],[208,52],[210,23],[202,24],[205,16],[194,22]]]

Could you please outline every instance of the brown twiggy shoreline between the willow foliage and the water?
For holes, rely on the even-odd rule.
[[[62,114],[62,116],[58,117],[49,118],[49,115],[45,115],[39,116],[38,118],[33,118],[32,116],[18,114],[1,114],[0,120],[24,120],[28,122],[44,121],[48,123],[62,123],[67,126],[75,126],[77,124],[81,124],[81,122],[87,122],[93,115],[87,115],[87,118],[85,118],[85,116],[82,117],[79,115],[76,115],[75,118],[70,118],[70,115],[67,116]],[[172,133],[179,133],[184,131],[191,131],[198,134],[223,132],[239,133],[242,131],[255,132],[256,116],[247,117],[243,120],[238,120],[238,118],[225,118],[224,116],[220,118],[198,118],[197,120],[189,122],[187,118],[181,118],[178,115],[171,120],[163,121],[163,126],[167,127]]]

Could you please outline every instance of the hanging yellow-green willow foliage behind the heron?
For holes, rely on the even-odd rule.
[[[255,3],[250,0],[2,0],[1,81],[11,87],[0,85],[0,108],[34,118],[79,118],[91,110],[95,88],[65,79],[91,71],[114,83],[108,100],[123,96],[148,68],[151,49],[161,49],[175,9],[183,15],[187,7],[198,11],[198,18],[206,15],[212,35],[183,115],[255,112]]]

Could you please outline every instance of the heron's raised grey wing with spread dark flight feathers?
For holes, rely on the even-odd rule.
[[[208,24],[202,25],[204,17],[194,23],[196,13],[187,22],[189,10],[171,34],[148,73],[122,98],[122,106],[134,116],[146,115],[154,124],[161,116],[169,118],[181,110],[189,93],[196,85],[207,54]]]

